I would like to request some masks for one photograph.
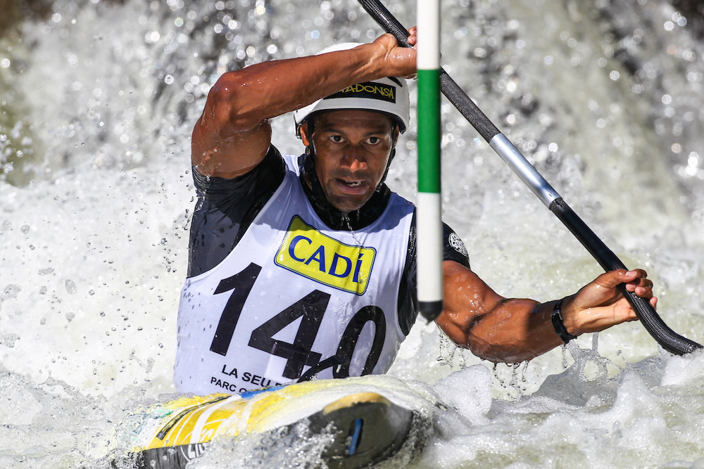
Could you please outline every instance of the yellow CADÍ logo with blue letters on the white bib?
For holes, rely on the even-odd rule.
[[[274,262],[323,285],[364,295],[376,254],[374,248],[340,243],[296,215]]]

